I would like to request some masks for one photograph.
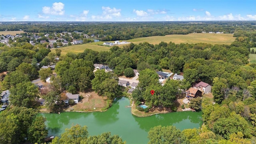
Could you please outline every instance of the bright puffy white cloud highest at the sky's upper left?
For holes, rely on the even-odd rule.
[[[64,15],[64,4],[62,2],[54,2],[52,7],[44,6],[42,11],[44,14]]]

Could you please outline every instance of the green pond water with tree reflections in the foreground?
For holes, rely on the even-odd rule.
[[[128,98],[116,100],[106,112],[63,112],[41,114],[46,118],[48,135],[60,136],[72,124],[86,125],[90,135],[103,132],[118,134],[127,144],[147,144],[148,131],[158,125],[173,125],[180,130],[199,128],[202,125],[201,112],[171,112],[147,117],[132,115]]]

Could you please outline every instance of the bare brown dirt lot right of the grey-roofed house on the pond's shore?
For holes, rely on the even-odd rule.
[[[80,96],[82,96],[82,100],[75,104],[74,106],[70,106],[70,110],[74,111],[92,111],[92,110],[101,110],[106,107],[107,98],[103,96],[99,96],[96,92],[80,92]]]

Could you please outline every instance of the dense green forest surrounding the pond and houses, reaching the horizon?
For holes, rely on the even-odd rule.
[[[236,24],[238,25],[237,28]],[[16,144],[24,141],[24,138],[30,142],[42,142],[47,131],[45,131],[43,124],[45,119],[38,117],[33,109],[36,98],[45,98],[46,107],[52,112],[62,110],[64,90],[74,94],[92,89],[111,101],[115,97],[125,94],[124,88],[118,86],[118,76],[124,75],[129,68],[140,71],[140,83],[138,88],[134,90],[132,98],[136,104],[145,102],[149,106],[148,110],[155,107],[167,107],[176,110],[174,101],[181,90],[188,89],[198,81],[212,85],[212,94],[216,104],[207,98],[198,100],[198,110],[202,110],[204,122],[202,128],[180,131],[174,126],[158,126],[152,128],[148,134],[150,144],[172,143],[174,141],[184,144],[250,144],[255,142],[256,64],[248,62],[248,55],[252,52],[251,49],[256,46],[256,31],[253,22],[212,22],[210,24],[152,22],[135,23],[135,25],[133,23],[91,25],[78,24],[75,27],[64,24],[61,26],[64,29],[60,31],[73,31],[79,30],[75,28],[81,28],[79,31],[85,32],[88,26],[88,28],[94,27],[92,31],[88,30],[94,34],[100,34],[96,31],[101,29],[102,34],[109,35],[114,30],[117,30],[116,34],[122,31],[128,35],[131,34],[131,31],[152,35],[153,32],[159,30],[160,35],[162,35],[165,34],[162,33],[165,27],[166,34],[172,34],[169,32],[173,32],[175,28],[177,28],[177,34],[182,34],[180,32],[184,29],[190,33],[195,32],[196,29],[228,32],[226,29],[230,28],[229,33],[234,33],[236,40],[230,45],[174,44],[172,42],[160,42],[156,45],[148,42],[131,43],[123,48],[112,46],[109,51],[97,52],[86,49],[82,53],[69,52],[66,55],[61,55],[61,48],[51,52],[43,45],[32,46],[27,42],[13,42],[11,47],[1,44],[0,72],[9,72],[7,75],[0,75],[1,90],[10,90],[10,102],[13,107],[0,113],[2,118],[0,126],[4,128],[4,130],[0,130],[0,136],[2,136],[0,143]],[[1,28],[8,29],[8,27],[15,28],[19,25],[3,26]],[[47,30],[45,32],[50,31],[51,28],[53,30],[55,27],[52,25],[37,27],[36,24],[20,26],[24,26],[21,28],[25,31],[26,28],[32,30],[42,26],[42,29]],[[105,33],[109,32],[108,29],[104,29],[105,26],[109,27],[110,33]],[[210,29],[211,27],[216,29]],[[123,29],[119,30],[120,28]],[[149,32],[147,31],[149,29],[152,30]],[[134,33],[130,36],[132,36],[130,38],[135,38],[135,36],[143,37],[146,35],[135,35]],[[118,37],[118,39],[120,38]],[[122,37],[122,39],[124,38]],[[56,56],[59,57],[59,61],[55,59]],[[38,66],[37,63],[40,65]],[[93,64],[95,63],[108,65],[114,73],[104,70],[97,70],[94,73]],[[51,85],[39,92],[38,88],[30,81],[39,76],[43,80],[47,76],[53,75],[50,69],[39,69],[40,66],[49,64],[56,64],[57,76],[52,76]],[[184,80],[168,80],[164,86],[161,86],[156,71],[162,71],[162,69],[183,74]],[[152,89],[156,93],[154,96],[150,94]],[[25,114],[28,116],[25,117]],[[38,124],[42,127],[36,127]],[[86,127],[81,128],[80,126],[73,126],[53,143],[58,144],[66,141],[65,138],[72,136],[72,132],[76,128],[84,132],[83,135],[80,135],[82,138],[77,136],[78,139],[70,139],[70,142],[90,143],[90,140],[106,137],[109,138],[110,142],[122,143],[118,136],[111,136],[110,133],[88,137]],[[40,131],[44,133],[38,134]]]

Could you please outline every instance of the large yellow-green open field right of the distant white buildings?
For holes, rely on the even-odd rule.
[[[132,40],[127,40],[128,42],[132,42],[134,44],[139,44],[141,42],[149,42],[150,44],[159,44],[160,42],[174,42],[175,44],[180,43],[208,43],[208,44],[231,44],[235,41],[235,37],[233,34],[172,34],[166,36],[150,36],[146,38],[135,38]]]

